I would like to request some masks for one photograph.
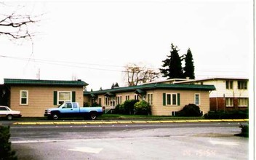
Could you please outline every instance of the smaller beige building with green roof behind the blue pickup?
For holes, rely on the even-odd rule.
[[[57,107],[64,101],[83,105],[84,81],[55,81],[33,79],[4,79],[10,108],[20,111],[23,117],[44,116],[44,110]]]

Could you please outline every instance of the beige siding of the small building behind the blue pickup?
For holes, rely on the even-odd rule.
[[[10,107],[20,111],[24,117],[41,117],[44,116],[45,109],[57,107],[53,103],[54,91],[76,92],[76,102],[83,105],[84,101],[82,87],[12,86],[10,90]],[[28,91],[28,105],[20,105],[20,90]]]

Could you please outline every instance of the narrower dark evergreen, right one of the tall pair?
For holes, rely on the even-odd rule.
[[[195,67],[193,65],[193,55],[191,49],[188,49],[188,52],[185,55],[185,67],[183,69],[185,77],[189,77],[189,79],[195,79]]]

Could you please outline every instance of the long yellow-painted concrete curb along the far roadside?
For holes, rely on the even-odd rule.
[[[14,125],[61,125],[61,124],[156,124],[156,123],[200,123],[200,122],[239,122],[249,119],[199,119],[199,120],[161,120],[161,121],[42,121],[15,122]]]

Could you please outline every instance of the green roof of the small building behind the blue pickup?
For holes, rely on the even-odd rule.
[[[33,86],[73,86],[82,87],[88,84],[84,81],[60,81],[60,80],[37,80],[37,79],[4,79],[7,85],[33,85]]]

